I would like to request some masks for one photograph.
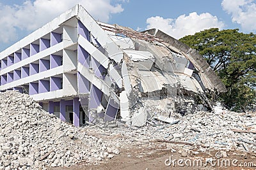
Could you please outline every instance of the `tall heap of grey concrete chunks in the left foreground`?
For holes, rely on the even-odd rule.
[[[42,169],[111,159],[119,151],[62,122],[19,92],[0,93],[0,169]]]

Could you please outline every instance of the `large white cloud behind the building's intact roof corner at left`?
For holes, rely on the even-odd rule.
[[[34,31],[77,3],[102,22],[108,22],[111,14],[124,10],[121,4],[112,4],[111,0],[27,0],[12,6],[0,3],[0,43],[15,40],[19,29]]]

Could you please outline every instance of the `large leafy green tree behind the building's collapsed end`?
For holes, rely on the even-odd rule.
[[[256,35],[218,28],[185,36],[180,41],[198,50],[227,87],[225,105],[244,111],[256,102]]]

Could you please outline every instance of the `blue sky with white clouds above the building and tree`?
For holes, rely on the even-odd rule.
[[[0,0],[0,51],[80,3],[96,20],[174,38],[218,27],[256,32],[256,0]]]

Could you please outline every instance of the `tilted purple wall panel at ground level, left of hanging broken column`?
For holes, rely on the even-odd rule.
[[[109,100],[104,121],[110,122],[115,120],[116,113],[118,112],[119,104],[115,103],[113,99]]]

